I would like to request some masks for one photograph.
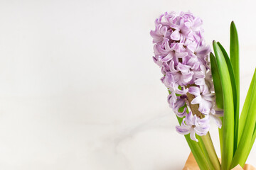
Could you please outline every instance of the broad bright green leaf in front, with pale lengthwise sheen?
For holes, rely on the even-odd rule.
[[[234,105],[233,105],[233,91],[230,81],[230,73],[225,57],[217,42],[213,41],[213,50],[218,65],[218,72],[220,73],[220,82],[223,89],[223,153],[221,159],[221,169],[230,169],[233,158],[234,149]]]

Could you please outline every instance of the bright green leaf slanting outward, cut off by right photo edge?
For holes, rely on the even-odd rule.
[[[256,71],[256,69],[255,69]],[[245,120],[245,125],[242,130],[242,135],[240,142],[238,144],[238,149],[235,152],[233,157],[233,162],[231,168],[235,167],[236,165],[240,164],[240,166],[244,166],[248,152],[250,152],[250,144],[252,142],[252,135],[255,129],[255,122],[256,122],[256,84],[255,84],[255,74],[253,76],[253,87],[252,87],[252,94],[250,97],[250,104],[247,111],[247,116]]]

